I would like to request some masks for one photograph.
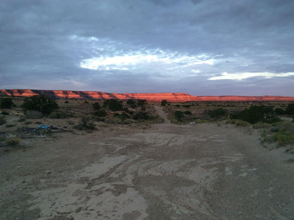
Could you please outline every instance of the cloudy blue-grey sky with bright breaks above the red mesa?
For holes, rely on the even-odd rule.
[[[1,0],[0,89],[294,96],[294,1]]]

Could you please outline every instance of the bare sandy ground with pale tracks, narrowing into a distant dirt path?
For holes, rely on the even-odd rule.
[[[294,219],[293,163],[215,124],[57,133],[1,153],[0,219]]]

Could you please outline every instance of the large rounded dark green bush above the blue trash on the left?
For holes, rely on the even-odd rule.
[[[21,105],[24,112],[28,110],[39,111],[44,115],[49,115],[53,110],[58,109],[57,101],[46,95],[34,95],[25,98]]]

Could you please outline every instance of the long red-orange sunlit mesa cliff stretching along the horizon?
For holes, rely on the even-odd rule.
[[[45,94],[54,99],[146,99],[148,102],[185,101],[294,101],[294,97],[284,96],[191,96],[187,93],[106,93],[66,90],[2,89],[0,95],[30,97]]]

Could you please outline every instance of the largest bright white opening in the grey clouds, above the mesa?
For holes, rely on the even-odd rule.
[[[180,69],[182,71],[195,72],[195,65],[213,65],[217,60],[208,54],[199,54],[195,56],[181,54],[172,51],[163,51],[160,49],[123,51],[120,49],[121,43],[101,40],[97,38],[83,38],[72,36],[71,40],[78,40],[87,43],[89,49],[94,54],[93,58],[81,60],[80,66],[92,70],[154,70],[163,72],[163,70]],[[97,51],[106,51],[107,56]],[[187,69],[188,68],[188,69]],[[199,71],[199,70],[197,70]]]

